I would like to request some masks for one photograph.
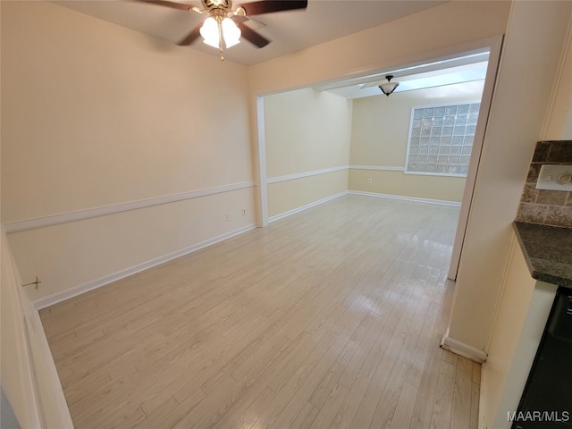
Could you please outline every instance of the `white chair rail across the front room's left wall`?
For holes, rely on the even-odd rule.
[[[189,192],[181,192],[180,194],[165,195],[163,197],[139,199],[137,201],[130,201],[128,203],[113,204],[111,206],[101,206],[95,208],[88,208],[85,210],[77,210],[75,212],[68,212],[62,214],[52,214],[44,217],[37,217],[26,221],[17,221],[11,223],[4,223],[4,231],[16,232],[26,231],[33,228],[42,228],[45,226],[57,225],[59,223],[68,223],[80,221],[83,219],[90,219],[97,216],[105,216],[106,214],[115,214],[127,212],[130,210],[138,210],[139,208],[146,208],[151,206],[159,206],[162,204],[170,204],[186,199],[207,197],[210,195],[221,194],[223,192],[231,192],[233,190],[247,189],[256,186],[254,181],[242,181],[240,183],[232,183],[231,185],[217,186],[215,188],[191,190]]]

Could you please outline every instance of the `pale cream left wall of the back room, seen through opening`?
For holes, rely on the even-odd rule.
[[[272,217],[347,189],[351,102],[303,88],[264,97],[268,214]],[[297,177],[293,174],[320,172]],[[282,179],[281,179],[282,178]],[[279,180],[272,182],[273,180]]]

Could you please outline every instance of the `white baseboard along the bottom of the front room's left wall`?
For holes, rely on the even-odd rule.
[[[147,270],[148,268],[152,268],[156,265],[164,264],[165,262],[169,262],[172,259],[175,259],[177,257],[183,257],[183,256],[188,255],[189,253],[197,251],[201,248],[206,248],[207,246],[211,246],[214,243],[218,243],[220,241],[230,239],[231,237],[234,237],[235,235],[239,235],[243,232],[253,230],[256,227],[257,227],[257,225],[255,225],[253,223],[253,224],[244,226],[242,228],[239,228],[238,230],[226,232],[226,233],[219,235],[217,237],[214,237],[212,239],[201,241],[201,242],[199,242],[197,244],[193,244],[192,246],[189,246],[187,248],[181,248],[180,250],[176,250],[174,252],[168,253],[168,254],[164,255],[163,257],[156,257],[156,258],[151,259],[151,260],[144,262],[142,264],[131,266],[130,268],[126,268],[122,271],[118,271],[116,273],[106,275],[105,277],[101,277],[101,278],[94,280],[92,282],[83,283],[83,284],[80,284],[79,286],[75,286],[71,289],[63,290],[62,292],[55,293],[55,294],[50,295],[48,297],[37,299],[32,304],[33,304],[34,308],[36,308],[37,310],[41,310],[42,308],[53,306],[54,304],[57,304],[58,302],[62,302],[66,299],[71,299],[73,297],[77,297],[78,295],[81,295],[82,293],[88,292],[89,290],[94,290],[94,289],[100,288],[102,286],[105,286],[106,284],[116,282],[116,281],[121,280],[125,277],[128,277],[132,274],[139,273],[141,271]]]

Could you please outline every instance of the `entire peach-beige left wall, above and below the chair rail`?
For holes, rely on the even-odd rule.
[[[88,217],[8,235],[22,277],[42,279],[32,299],[255,223],[244,66],[59,5],[2,2],[2,105],[2,222]]]

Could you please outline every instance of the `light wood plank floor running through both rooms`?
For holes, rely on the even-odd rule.
[[[476,428],[458,208],[347,195],[40,312],[83,428]]]

